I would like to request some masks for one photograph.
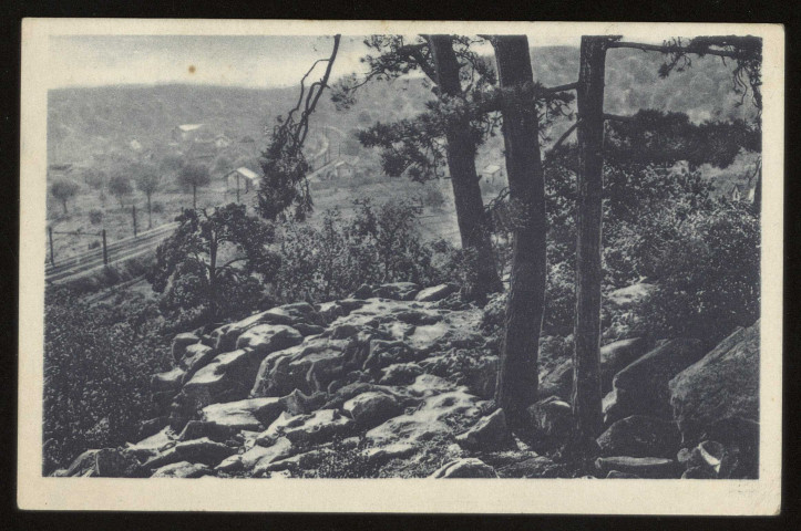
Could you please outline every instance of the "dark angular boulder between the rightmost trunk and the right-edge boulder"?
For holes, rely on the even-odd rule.
[[[704,355],[698,340],[672,340],[617,373],[614,400],[607,402],[606,423],[631,415],[670,418],[668,382]]]

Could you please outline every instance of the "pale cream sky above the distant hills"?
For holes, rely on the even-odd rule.
[[[359,62],[367,51],[362,40],[342,37],[333,79],[363,71]],[[156,83],[294,86],[315,60],[330,55],[332,42],[331,37],[319,35],[51,37],[50,88]],[[550,39],[548,44],[577,45],[578,40]],[[480,51],[490,53],[490,45]],[[325,64],[318,69],[321,74]]]

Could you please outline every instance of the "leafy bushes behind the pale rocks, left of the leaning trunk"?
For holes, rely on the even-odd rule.
[[[444,281],[450,248],[421,241],[418,206],[408,200],[373,206],[367,199],[355,206],[352,219],[335,209],[325,212],[319,228],[283,227],[275,280],[280,299],[319,302],[347,296],[364,283]]]

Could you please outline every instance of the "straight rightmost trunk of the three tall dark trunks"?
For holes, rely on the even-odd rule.
[[[600,228],[606,37],[582,37],[576,211],[576,315],[573,332],[575,442],[584,447],[603,428],[600,395]]]

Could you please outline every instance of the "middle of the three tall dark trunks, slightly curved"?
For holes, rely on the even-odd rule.
[[[510,201],[522,215],[512,232],[512,275],[495,402],[518,425],[525,419],[525,408],[537,399],[546,278],[545,183],[536,108],[514,96],[515,88],[534,81],[528,39],[495,37],[492,43],[501,87],[510,91],[501,107]]]

